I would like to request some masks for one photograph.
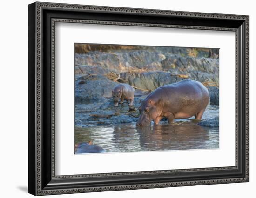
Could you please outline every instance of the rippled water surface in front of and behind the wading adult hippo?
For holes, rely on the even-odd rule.
[[[203,119],[219,115],[218,106],[209,105]],[[168,125],[137,127],[136,123],[75,127],[75,143],[92,141],[106,152],[140,152],[219,148],[219,128],[197,125],[194,119],[175,120]]]

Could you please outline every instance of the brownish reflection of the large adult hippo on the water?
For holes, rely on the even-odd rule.
[[[136,132],[142,150],[216,148],[211,139],[213,135],[194,121],[180,122],[178,125],[137,127]]]

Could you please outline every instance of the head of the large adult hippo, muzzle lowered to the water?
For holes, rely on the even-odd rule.
[[[145,99],[142,101],[139,111],[140,117],[137,121],[137,126],[149,126],[151,124],[151,120],[159,116],[157,105],[151,99]]]

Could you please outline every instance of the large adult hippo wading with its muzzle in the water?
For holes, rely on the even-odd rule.
[[[168,119],[169,124],[192,116],[202,119],[208,102],[209,92],[201,82],[182,80],[160,86],[141,102],[137,126],[150,125],[152,120],[157,125],[162,118]]]

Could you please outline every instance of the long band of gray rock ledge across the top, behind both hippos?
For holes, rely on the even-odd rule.
[[[144,68],[150,71],[166,71],[173,75],[186,74],[189,79],[201,82],[206,79],[219,82],[219,59],[190,57],[185,53],[186,48],[170,49],[172,50],[169,52],[168,48],[163,47],[153,48],[151,51],[141,49],[75,54],[75,74],[103,75]],[[205,51],[202,50],[202,53]]]

